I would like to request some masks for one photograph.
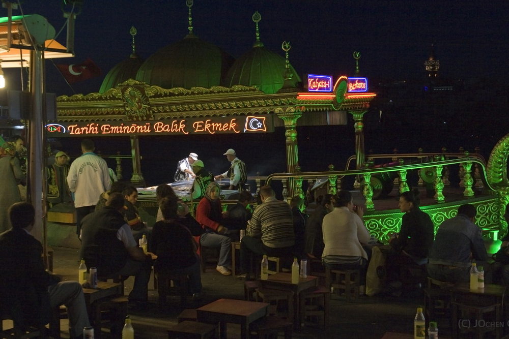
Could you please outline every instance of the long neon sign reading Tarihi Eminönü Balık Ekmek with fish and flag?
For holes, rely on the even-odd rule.
[[[272,115],[239,115],[158,121],[79,121],[46,125],[46,135],[55,138],[266,132],[274,132]]]

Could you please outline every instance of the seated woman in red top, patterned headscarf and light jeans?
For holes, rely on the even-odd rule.
[[[199,222],[205,232],[200,237],[200,244],[207,247],[220,247],[219,260],[216,270],[223,275],[230,275],[232,272],[228,269],[231,266],[232,240],[223,235],[228,228],[222,225],[221,200],[219,184],[209,183],[205,191],[205,197],[200,200],[196,208],[196,221]]]

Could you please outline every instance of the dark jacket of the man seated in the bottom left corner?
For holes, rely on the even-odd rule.
[[[36,238],[21,228],[0,234],[0,313],[7,311],[21,328],[47,324],[48,286],[59,281],[44,269]]]

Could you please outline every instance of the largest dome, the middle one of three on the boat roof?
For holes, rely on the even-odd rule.
[[[233,57],[193,34],[152,54],[136,74],[136,80],[162,88],[221,85]]]

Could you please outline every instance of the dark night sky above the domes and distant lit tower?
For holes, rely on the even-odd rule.
[[[60,3],[25,0],[22,8],[25,14],[45,16],[58,31],[65,22]],[[262,42],[283,55],[281,42],[289,40],[291,63],[301,75],[352,74],[352,52],[358,50],[365,76],[415,78],[423,72],[431,43],[436,46],[445,77],[509,75],[506,1],[195,0],[194,33],[238,57],[254,41],[251,15],[256,10],[262,15]],[[2,11],[6,15],[6,10]],[[187,34],[185,1],[85,0],[76,20],[76,57],[56,63],[79,64],[90,57],[104,76],[129,56],[131,25],[138,30],[138,54],[147,58]],[[64,29],[57,40],[65,44],[65,36]],[[72,94],[50,61],[47,63],[47,91]],[[73,87],[76,93],[90,93],[97,91],[101,82],[102,77],[97,77]]]

